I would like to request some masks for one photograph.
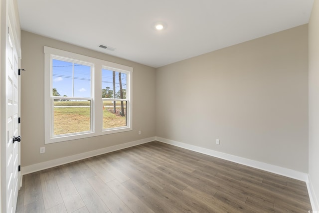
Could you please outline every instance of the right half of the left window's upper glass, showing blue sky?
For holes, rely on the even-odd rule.
[[[74,64],[74,97],[91,97],[91,67]]]

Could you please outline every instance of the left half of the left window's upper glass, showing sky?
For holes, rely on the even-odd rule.
[[[72,92],[73,63],[52,60],[52,95],[73,96]]]

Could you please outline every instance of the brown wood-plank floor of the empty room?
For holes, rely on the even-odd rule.
[[[23,176],[17,213],[307,213],[306,184],[151,142]]]

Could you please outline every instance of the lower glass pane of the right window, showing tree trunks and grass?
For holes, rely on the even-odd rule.
[[[126,125],[126,101],[103,101],[103,129]]]

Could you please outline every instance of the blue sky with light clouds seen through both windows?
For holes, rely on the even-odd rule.
[[[56,88],[60,96],[91,97],[90,66],[57,59],[52,60],[52,66],[52,88]],[[126,89],[126,74],[121,73],[121,77],[122,87]],[[115,92],[118,92],[120,90],[119,72],[116,72],[115,84]],[[102,88],[106,87],[113,90],[113,71],[102,69]]]

